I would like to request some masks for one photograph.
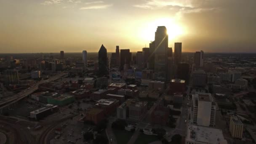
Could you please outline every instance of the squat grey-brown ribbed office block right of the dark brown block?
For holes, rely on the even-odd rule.
[[[206,73],[203,70],[197,70],[192,73],[192,85],[193,86],[205,86],[206,85]]]

